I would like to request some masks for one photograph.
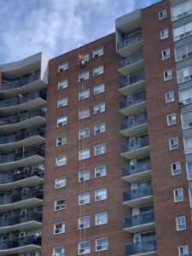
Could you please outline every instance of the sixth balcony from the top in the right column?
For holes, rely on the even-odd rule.
[[[134,142],[125,143],[121,146],[121,155],[131,160],[149,154],[148,136],[137,137]]]

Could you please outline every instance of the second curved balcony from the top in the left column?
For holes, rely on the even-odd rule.
[[[0,113],[13,115],[46,104],[46,91],[34,91],[17,98],[0,101]]]

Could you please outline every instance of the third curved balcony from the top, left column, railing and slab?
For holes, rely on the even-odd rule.
[[[42,109],[32,109],[19,115],[0,117],[0,132],[11,133],[31,128],[32,126],[42,125],[46,121],[46,115],[46,111]]]

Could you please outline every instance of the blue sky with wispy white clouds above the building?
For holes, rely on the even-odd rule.
[[[114,20],[158,0],[0,0],[0,63],[50,58],[114,32]]]

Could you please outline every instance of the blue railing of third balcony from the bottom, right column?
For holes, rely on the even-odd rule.
[[[152,186],[148,185],[141,189],[132,189],[130,191],[125,191],[123,194],[123,201],[137,200],[150,195],[153,195],[153,190]]]

